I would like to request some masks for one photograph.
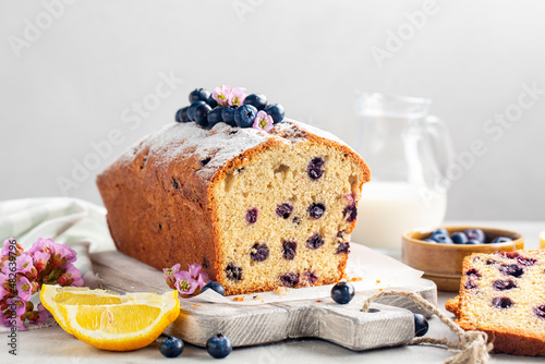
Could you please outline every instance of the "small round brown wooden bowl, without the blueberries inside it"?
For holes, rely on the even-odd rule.
[[[511,238],[512,241],[497,244],[461,245],[439,244],[423,241],[433,230],[412,230],[403,234],[401,260],[424,271],[423,278],[433,280],[441,291],[458,292],[462,277],[463,258],[473,253],[512,252],[524,247],[521,234],[501,229],[482,227],[445,227],[449,234],[468,229],[481,229],[486,234],[486,241],[497,236]],[[434,229],[435,230],[435,229]]]

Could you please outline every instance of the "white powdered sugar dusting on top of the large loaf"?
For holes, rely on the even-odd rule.
[[[131,161],[143,149],[148,149],[148,158],[153,157],[165,167],[181,156],[193,155],[201,160],[207,160],[206,165],[195,173],[204,179],[210,179],[229,160],[244,150],[270,138],[291,146],[305,141],[308,133],[346,145],[331,133],[290,119],[276,124],[270,133],[253,128],[235,128],[226,123],[218,123],[211,129],[202,128],[195,122],[171,123],[146,136],[126,151],[120,161]]]

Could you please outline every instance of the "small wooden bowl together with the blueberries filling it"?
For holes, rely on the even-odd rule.
[[[465,256],[513,252],[523,247],[522,235],[510,230],[470,226],[416,229],[402,235],[401,259],[412,268],[423,270],[423,278],[433,280],[437,289],[458,292]]]

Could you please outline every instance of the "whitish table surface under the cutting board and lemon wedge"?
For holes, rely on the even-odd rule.
[[[463,223],[463,221],[456,221]],[[514,230],[524,235],[525,248],[538,247],[538,232],[545,230],[545,221],[486,221],[471,222]],[[438,304],[444,310],[445,302],[453,293],[439,292]],[[437,318],[432,318],[428,336],[456,339],[445,325]],[[175,359],[164,357],[159,353],[159,344],[153,343],[147,348],[125,353],[107,352],[89,347],[60,327],[49,327],[39,330],[17,332],[17,356],[8,353],[7,335],[2,333],[0,345],[0,363],[156,363],[174,362]],[[399,347],[353,352],[322,340],[303,339],[289,340],[276,344],[255,348],[238,348],[221,363],[443,363],[451,354],[436,347]],[[185,350],[178,360],[189,363],[215,362],[208,353],[201,348],[185,345]],[[493,354],[492,363],[543,363],[543,357],[519,357],[506,354]]]

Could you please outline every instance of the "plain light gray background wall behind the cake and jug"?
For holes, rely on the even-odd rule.
[[[0,1],[0,199],[62,195],[58,180],[74,181],[92,143],[118,130],[123,143],[66,191],[100,203],[99,171],[171,122],[191,89],[227,83],[351,144],[356,90],[429,97],[458,153],[475,139],[487,149],[453,182],[447,218],[544,219],[545,95],[497,141],[483,129],[513,110],[523,84],[545,89],[543,1],[438,0],[382,66],[371,50],[388,50],[390,32],[424,1],[77,1],[49,24],[53,2]],[[38,21],[41,34],[17,58],[10,41]],[[184,80],[174,93],[140,125],[124,122],[171,73]]]

